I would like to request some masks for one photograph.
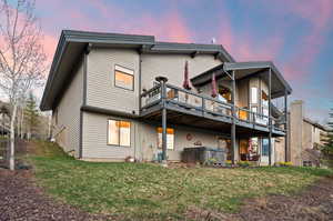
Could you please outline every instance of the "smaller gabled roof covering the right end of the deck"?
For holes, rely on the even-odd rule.
[[[272,98],[284,96],[285,91],[291,94],[292,88],[285,81],[281,72],[272,61],[251,62],[224,62],[191,79],[193,86],[202,86],[211,81],[211,74],[215,73],[216,79],[226,78],[225,72],[235,71],[235,79],[241,80],[248,77],[260,76],[269,82],[269,69],[272,70]]]

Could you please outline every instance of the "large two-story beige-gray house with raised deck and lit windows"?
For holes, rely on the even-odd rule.
[[[272,62],[236,62],[220,44],[65,30],[40,108],[82,160],[179,161],[184,148],[211,147],[268,164],[286,134],[286,106],[273,100],[291,92]]]

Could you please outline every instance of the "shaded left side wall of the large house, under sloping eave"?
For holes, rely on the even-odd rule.
[[[80,147],[80,108],[83,101],[83,66],[80,62],[78,70],[72,73],[73,80],[61,98],[57,112],[53,112],[53,134],[56,141],[67,152],[79,157]],[[56,114],[58,123],[56,124]],[[61,132],[60,132],[61,131]]]

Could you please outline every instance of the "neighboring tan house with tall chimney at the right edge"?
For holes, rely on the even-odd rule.
[[[294,165],[320,165],[320,147],[329,129],[304,114],[304,102],[295,100],[290,108],[289,159]]]

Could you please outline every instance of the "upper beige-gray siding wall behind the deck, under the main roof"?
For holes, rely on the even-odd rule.
[[[186,54],[142,54],[142,89],[152,88],[158,76],[165,76],[169,83],[182,87],[185,61],[189,62],[190,79],[222,63],[209,54],[193,59]]]

